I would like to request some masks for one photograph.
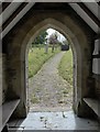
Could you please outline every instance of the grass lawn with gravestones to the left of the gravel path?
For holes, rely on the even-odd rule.
[[[29,78],[33,77],[43,66],[43,64],[53,55],[59,52],[58,50],[55,50],[54,53],[52,53],[52,48],[48,48],[48,53],[45,53],[44,47],[41,50],[38,47],[34,47],[33,52],[30,50],[29,52]]]

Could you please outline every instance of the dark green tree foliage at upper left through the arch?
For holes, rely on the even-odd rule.
[[[32,43],[32,45],[34,45],[34,44],[45,44],[45,42],[47,41],[46,40],[46,35],[47,35],[48,33],[46,32],[46,31],[42,31],[41,33],[40,33],[40,35],[38,36],[36,36],[36,38],[34,40],[34,42]]]

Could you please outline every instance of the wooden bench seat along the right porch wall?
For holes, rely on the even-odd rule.
[[[84,101],[95,111],[95,113],[100,118],[100,103],[97,99],[84,98]]]

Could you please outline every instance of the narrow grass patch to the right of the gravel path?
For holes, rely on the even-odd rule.
[[[70,86],[73,86],[73,52],[71,50],[67,51],[63,56],[59,66],[59,75],[66,79]]]

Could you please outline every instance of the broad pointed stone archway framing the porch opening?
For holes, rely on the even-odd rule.
[[[87,78],[91,73],[91,41],[87,36],[87,33],[91,35],[93,32],[84,23],[84,21],[80,19],[77,20],[77,18],[73,19],[69,14],[59,11],[34,12],[34,14],[30,14],[23,23],[19,23],[7,37],[9,42],[9,92],[13,92],[21,99],[15,111],[18,117],[26,117],[29,111],[26,97],[29,88],[26,73],[27,46],[32,38],[37,36],[41,30],[47,28],[57,30],[70,42],[74,54],[73,107],[78,116],[85,116],[85,113],[88,112],[86,111],[86,106],[82,101],[82,98],[88,96]],[[80,26],[79,21],[86,29]],[[13,37],[10,37],[12,34]]]

